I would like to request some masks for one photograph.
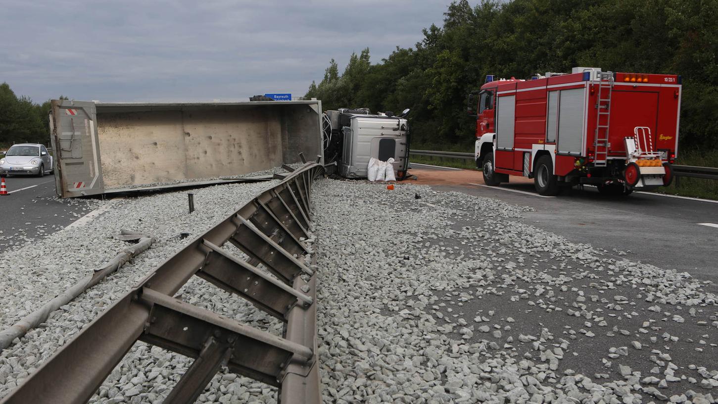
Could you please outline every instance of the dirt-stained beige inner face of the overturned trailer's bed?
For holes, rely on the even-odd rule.
[[[284,162],[281,132],[279,109],[103,113],[98,108],[107,189],[276,167]]]

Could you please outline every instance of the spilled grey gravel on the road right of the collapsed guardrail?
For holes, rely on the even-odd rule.
[[[493,199],[332,180],[313,192],[325,402],[718,397],[714,285]]]

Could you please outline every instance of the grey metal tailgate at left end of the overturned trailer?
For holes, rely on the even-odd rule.
[[[57,196],[103,193],[95,103],[52,100],[50,132]]]

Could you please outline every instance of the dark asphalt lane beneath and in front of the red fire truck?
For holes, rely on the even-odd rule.
[[[447,178],[459,175],[454,170],[414,166],[413,174],[445,170]],[[432,188],[531,206],[535,211],[523,214],[522,220],[527,224],[633,261],[689,272],[699,279],[718,283],[717,201],[655,193],[607,198],[593,187],[572,188],[555,198],[544,198],[536,193],[533,183],[523,178],[511,177],[513,183],[488,187],[483,184],[481,173],[468,174],[474,180]]]

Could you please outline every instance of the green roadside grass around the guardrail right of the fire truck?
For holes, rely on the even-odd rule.
[[[699,150],[681,151],[679,158],[676,160],[676,165],[718,167],[718,150],[711,150],[709,152],[701,152]],[[673,178],[671,185],[658,188],[654,192],[718,200],[718,180],[676,177]]]

